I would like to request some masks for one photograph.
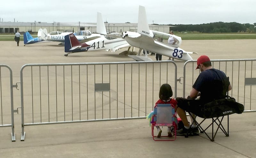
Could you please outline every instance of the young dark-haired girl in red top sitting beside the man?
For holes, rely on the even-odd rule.
[[[159,90],[159,100],[157,100],[155,107],[157,104],[171,104],[175,110],[177,109],[177,101],[175,99],[172,99],[172,87],[165,83],[160,87]],[[156,126],[157,128],[157,137],[161,137],[162,130],[159,126]],[[168,137],[172,137],[172,130],[171,127],[167,128]]]

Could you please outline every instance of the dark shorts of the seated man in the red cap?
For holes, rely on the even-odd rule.
[[[177,97],[176,101],[178,102],[177,106],[187,112],[191,112],[195,115],[202,113],[202,106],[200,100]]]

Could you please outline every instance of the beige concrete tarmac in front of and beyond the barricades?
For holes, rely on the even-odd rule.
[[[22,41],[21,41],[22,42]],[[181,48],[196,51],[193,59],[208,55],[210,59],[255,59],[256,40],[185,40]],[[57,42],[18,47],[13,42],[0,42],[0,64],[12,68],[13,83],[20,81],[20,68],[30,63],[84,63],[133,61],[117,52],[80,52],[65,57],[64,47]],[[155,56],[149,56],[155,60]],[[163,56],[163,60],[168,57]],[[182,72],[184,61],[175,60]],[[20,92],[15,92],[18,98]],[[15,98],[15,99],[17,99]],[[14,105],[14,109],[18,105]],[[229,117],[229,137],[219,131],[211,142],[205,134],[175,141],[154,141],[148,120],[86,122],[26,126],[25,141],[20,141],[21,116],[14,115],[16,141],[11,141],[11,127],[0,128],[0,157],[256,157],[255,113]],[[210,122],[211,120],[207,120]],[[227,125],[227,122],[223,122]],[[205,123],[206,125],[206,123]],[[166,134],[163,128],[162,135]]]

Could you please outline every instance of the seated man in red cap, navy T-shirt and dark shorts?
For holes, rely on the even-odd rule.
[[[201,73],[197,77],[188,99],[176,98],[178,102],[177,113],[184,124],[184,128],[177,130],[177,135],[186,135],[189,128],[192,128],[191,135],[198,135],[199,130],[196,123],[194,122],[191,127],[189,126],[186,111],[198,114],[201,111],[200,105],[215,99],[225,98],[227,91],[232,89],[228,77],[224,72],[212,68],[208,56],[202,55],[197,59],[196,69],[198,68],[200,68]],[[199,99],[198,96],[200,96]],[[193,122],[192,118],[191,122]]]

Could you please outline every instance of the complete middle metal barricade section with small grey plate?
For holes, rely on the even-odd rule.
[[[164,83],[177,96],[173,61],[27,64],[20,70],[25,126],[146,118]]]

